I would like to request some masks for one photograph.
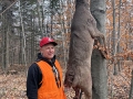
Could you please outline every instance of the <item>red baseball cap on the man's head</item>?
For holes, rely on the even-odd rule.
[[[49,43],[52,43],[54,46],[58,45],[58,43],[55,43],[53,38],[51,38],[51,37],[43,37],[40,41],[40,47],[42,47],[43,45],[47,45]]]

